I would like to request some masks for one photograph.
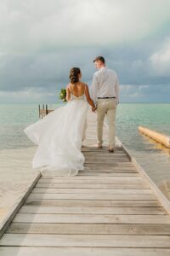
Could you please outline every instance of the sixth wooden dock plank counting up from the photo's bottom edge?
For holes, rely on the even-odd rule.
[[[49,207],[161,207],[159,201],[145,200],[59,200],[59,199],[32,199],[26,200],[26,205]]]

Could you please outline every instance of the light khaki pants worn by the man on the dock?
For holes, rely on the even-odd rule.
[[[98,143],[103,143],[103,125],[106,115],[109,125],[109,148],[114,148],[116,136],[116,99],[98,99],[96,111]]]

